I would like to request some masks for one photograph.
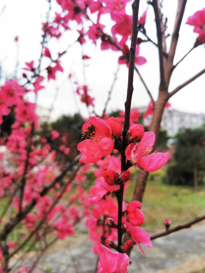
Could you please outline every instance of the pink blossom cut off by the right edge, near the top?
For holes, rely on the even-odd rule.
[[[205,8],[198,10],[192,16],[189,16],[187,23],[194,26],[194,32],[198,33],[197,40],[199,44],[205,43]]]

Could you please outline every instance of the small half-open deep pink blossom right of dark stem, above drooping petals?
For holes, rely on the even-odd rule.
[[[128,218],[129,223],[134,226],[142,225],[145,219],[144,214],[138,207],[141,207],[141,203],[139,201],[132,201],[126,207],[126,217]]]

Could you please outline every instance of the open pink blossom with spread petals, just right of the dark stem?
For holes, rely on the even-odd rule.
[[[169,153],[152,153],[155,142],[155,133],[145,132],[139,143],[131,143],[125,150],[125,155],[133,165],[137,165],[139,169],[148,172],[155,172],[159,170],[168,161]],[[146,156],[147,155],[147,156]]]

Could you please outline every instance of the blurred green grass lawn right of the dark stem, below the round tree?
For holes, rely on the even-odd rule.
[[[135,180],[127,190],[127,201],[131,201]],[[163,220],[169,218],[172,227],[188,222],[205,213],[205,188],[194,193],[193,187],[167,185],[160,177],[148,180],[142,212],[145,214],[143,227],[147,230],[164,229]],[[201,222],[205,224],[204,222]]]

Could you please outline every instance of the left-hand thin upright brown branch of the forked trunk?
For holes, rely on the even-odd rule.
[[[166,38],[165,38],[165,27],[162,23],[162,16],[163,14],[160,11],[160,4],[159,0],[153,0],[151,5],[154,9],[155,14],[155,22],[156,22],[156,29],[157,29],[157,40],[158,40],[158,51],[159,51],[159,68],[160,68],[160,87],[159,89],[162,90],[166,86],[165,81],[165,57],[164,53],[166,53]]]

